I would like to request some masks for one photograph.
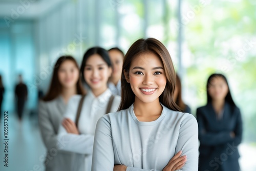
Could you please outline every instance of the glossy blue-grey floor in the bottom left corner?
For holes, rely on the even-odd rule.
[[[31,171],[44,170],[46,148],[40,137],[37,118],[24,114],[22,121],[16,115],[8,114],[8,152],[5,153],[4,121],[1,120],[0,139],[0,170]],[[5,155],[8,155],[8,167],[5,165]]]

